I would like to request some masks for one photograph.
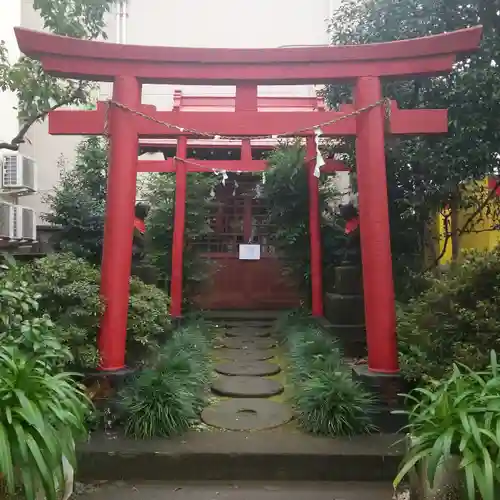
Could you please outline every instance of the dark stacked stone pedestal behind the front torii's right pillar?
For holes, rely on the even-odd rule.
[[[325,295],[328,330],[337,337],[348,357],[366,356],[365,311],[361,268],[355,265],[335,269],[335,292]]]

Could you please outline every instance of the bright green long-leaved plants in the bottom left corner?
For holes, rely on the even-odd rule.
[[[0,474],[6,490],[27,500],[58,498],[63,460],[75,467],[75,440],[84,437],[90,409],[83,388],[61,372],[71,360],[59,328],[41,316],[22,271],[0,275]]]

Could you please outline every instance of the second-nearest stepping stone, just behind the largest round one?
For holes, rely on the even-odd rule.
[[[276,380],[261,377],[219,377],[212,384],[212,392],[231,398],[269,398],[283,391]]]

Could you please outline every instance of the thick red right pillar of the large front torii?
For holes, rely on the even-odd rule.
[[[359,78],[355,88],[357,109],[382,99],[380,79]],[[391,233],[387,173],[385,169],[385,109],[377,106],[356,120],[361,259],[365,303],[368,366],[372,372],[398,372],[396,309],[392,276]]]

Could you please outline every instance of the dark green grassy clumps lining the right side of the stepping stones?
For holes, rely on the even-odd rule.
[[[322,436],[369,433],[375,400],[342,363],[337,343],[318,328],[302,328],[289,340],[292,402],[300,426]]]

